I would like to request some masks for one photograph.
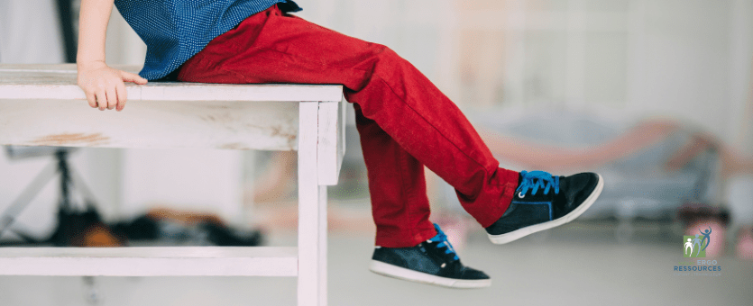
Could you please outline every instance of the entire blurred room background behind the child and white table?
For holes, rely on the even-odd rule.
[[[753,0],[297,3],[298,16],[407,58],[461,107],[502,166],[598,171],[606,181],[573,223],[494,246],[453,188],[427,170],[432,220],[464,264],[492,276],[491,289],[372,275],[374,226],[350,110],[340,184],[329,188],[332,305],[753,304]],[[0,62],[71,60],[77,14],[77,1],[0,2]],[[142,65],[145,48],[114,10],[108,64]],[[55,160],[17,152],[0,152],[0,212]],[[0,244],[67,245],[48,237],[90,223],[102,230],[64,240],[121,245],[122,233],[148,229],[131,244],[296,243],[295,152],[81,148],[67,157],[90,190],[71,201],[92,202],[96,214],[61,221],[55,178]],[[674,266],[695,265],[682,257],[683,235],[707,228],[714,233],[707,257],[721,275],[675,275]],[[295,285],[3,276],[0,304],[285,305],[295,302]]]

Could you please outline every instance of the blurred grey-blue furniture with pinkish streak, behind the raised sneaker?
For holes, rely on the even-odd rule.
[[[469,117],[487,135],[484,140],[502,167],[541,169],[558,175],[599,172],[604,192],[580,220],[617,220],[615,236],[620,242],[632,238],[636,220],[672,225],[684,203],[714,203],[721,160],[718,149],[694,145],[703,133],[675,121],[633,125],[622,114],[548,109],[518,113],[487,110],[469,113]],[[621,144],[629,145],[614,149],[626,147]],[[682,162],[676,160],[688,146],[693,154],[679,158]],[[600,156],[590,154],[593,151]],[[569,157],[546,157],[540,152]],[[528,153],[539,159],[520,158]],[[445,194],[451,192],[445,188]],[[662,230],[667,237],[674,235]]]

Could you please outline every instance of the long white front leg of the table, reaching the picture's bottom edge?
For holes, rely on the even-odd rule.
[[[326,186],[317,176],[318,110],[300,103],[298,125],[298,305],[326,305]]]

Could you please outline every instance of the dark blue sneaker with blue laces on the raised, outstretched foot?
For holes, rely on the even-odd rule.
[[[572,221],[591,207],[604,187],[595,173],[552,176],[523,171],[519,179],[510,208],[486,228],[492,243],[508,243]]]

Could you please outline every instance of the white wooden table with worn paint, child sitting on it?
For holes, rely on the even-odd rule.
[[[0,247],[0,275],[298,276],[298,305],[326,305],[326,186],[344,155],[342,86],[127,90],[124,112],[100,112],[75,65],[0,65],[0,145],[298,149],[298,247]]]

